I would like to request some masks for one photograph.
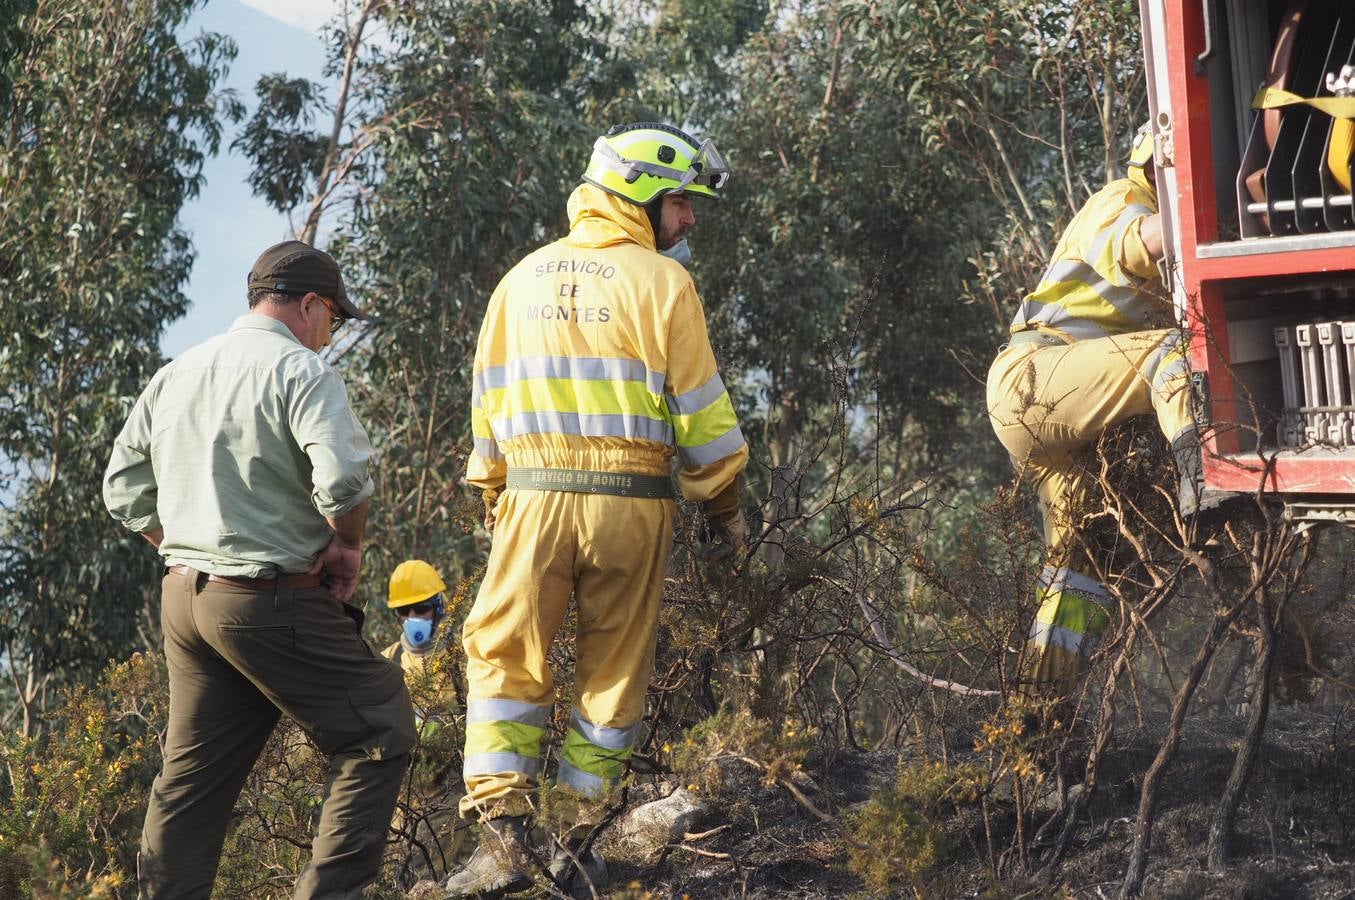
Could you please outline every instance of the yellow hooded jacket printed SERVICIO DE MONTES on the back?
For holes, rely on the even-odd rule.
[[[748,446],[691,275],[654,251],[641,206],[583,184],[569,220],[489,300],[466,480],[497,492],[508,466],[667,474],[676,453],[683,495],[715,496]]]

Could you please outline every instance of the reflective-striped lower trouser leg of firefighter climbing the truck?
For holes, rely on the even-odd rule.
[[[1077,687],[1108,621],[1110,596],[1093,577],[1045,567],[1037,587],[1039,609],[1030,628],[1028,686],[1066,695]]]

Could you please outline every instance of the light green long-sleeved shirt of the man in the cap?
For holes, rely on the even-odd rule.
[[[104,502],[133,531],[164,529],[168,565],[301,573],[341,539],[325,519],[371,496],[370,457],[339,373],[252,313],[150,380],[114,443]]]

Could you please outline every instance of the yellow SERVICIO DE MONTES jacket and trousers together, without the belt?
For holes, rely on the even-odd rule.
[[[558,781],[598,797],[621,777],[672,548],[671,499],[505,489],[508,472],[668,476],[676,453],[683,495],[711,502],[736,499],[748,458],[691,275],[656,252],[644,207],[583,184],[569,222],[499,283],[476,350],[466,480],[495,530],[462,636],[465,815],[531,808],[554,699],[546,652],[570,595],[575,709]]]

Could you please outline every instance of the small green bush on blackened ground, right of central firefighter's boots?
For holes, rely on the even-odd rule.
[[[871,893],[909,885],[925,896],[927,876],[948,859],[955,806],[973,801],[977,785],[970,767],[900,759],[894,782],[847,817],[848,867]]]

